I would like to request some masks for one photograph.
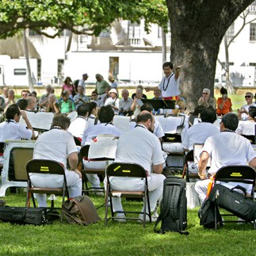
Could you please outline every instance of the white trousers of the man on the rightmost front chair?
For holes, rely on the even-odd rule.
[[[210,179],[208,178],[208,179],[205,179],[205,180],[197,181],[197,183],[195,185],[195,190],[198,193],[198,197],[199,197],[199,200],[200,200],[201,204],[204,201],[204,199],[206,198],[209,183],[210,183]],[[227,187],[229,189],[234,188],[236,185],[241,185],[246,189],[247,193],[251,193],[251,189],[252,189],[252,185],[245,184],[245,183],[221,182],[221,181],[217,181],[217,183],[221,184],[221,185],[224,185],[225,187]],[[236,191],[243,193],[240,189],[236,190]]]

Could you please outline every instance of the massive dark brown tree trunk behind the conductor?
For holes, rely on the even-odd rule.
[[[171,28],[170,61],[183,64],[181,95],[188,109],[197,105],[202,90],[214,89],[216,61],[228,27],[252,0],[166,0]]]

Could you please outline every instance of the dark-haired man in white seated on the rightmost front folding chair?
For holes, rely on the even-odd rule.
[[[195,189],[201,202],[204,201],[209,177],[216,174],[217,170],[223,166],[229,165],[247,165],[256,168],[256,155],[250,141],[243,136],[235,133],[238,127],[239,118],[235,113],[227,113],[222,117],[220,123],[220,133],[208,137],[202,149],[201,158],[198,163],[198,175],[201,181],[197,181]],[[209,157],[212,158],[211,167],[206,174],[206,166]],[[223,184],[230,188],[235,187],[235,182]],[[251,187],[243,185],[247,193],[250,193]]]

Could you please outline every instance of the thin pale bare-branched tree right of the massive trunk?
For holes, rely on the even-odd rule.
[[[224,35],[225,62],[223,63],[223,62],[220,61],[220,59],[218,59],[218,63],[220,63],[222,69],[225,71],[225,78],[226,78],[225,83],[226,83],[226,88],[227,88],[228,94],[234,94],[235,93],[235,88],[234,88],[234,86],[231,82],[231,79],[230,79],[229,47],[230,47],[231,43],[235,40],[235,38],[237,36],[239,36],[240,32],[243,31],[244,27],[256,20],[256,18],[254,18],[254,19],[250,19],[248,21],[249,13],[250,13],[250,10],[246,9],[245,11],[243,11],[243,13],[241,13],[239,15],[239,17],[242,19],[242,25],[240,26],[238,31],[234,34],[234,36],[228,36],[228,29],[227,29],[227,32]]]

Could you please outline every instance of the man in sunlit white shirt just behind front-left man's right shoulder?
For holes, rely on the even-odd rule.
[[[79,105],[77,112],[78,116],[75,117],[75,120],[71,122],[68,132],[71,132],[73,136],[77,137],[81,141],[82,136],[85,134],[86,129],[88,128],[87,117],[89,113],[89,105]]]

